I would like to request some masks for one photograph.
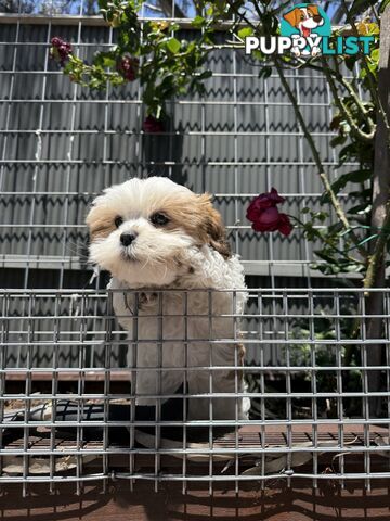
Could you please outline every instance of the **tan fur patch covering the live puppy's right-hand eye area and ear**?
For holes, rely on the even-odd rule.
[[[212,207],[209,194],[167,201],[158,212],[170,219],[165,229],[182,228],[196,239],[199,245],[209,244],[225,258],[232,255],[221,216]]]

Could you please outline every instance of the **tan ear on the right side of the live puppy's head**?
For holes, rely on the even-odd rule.
[[[226,240],[225,227],[219,212],[211,204],[211,196],[208,193],[198,195],[204,216],[203,228],[206,232],[208,244],[220,253],[224,258],[232,256],[231,246]]]

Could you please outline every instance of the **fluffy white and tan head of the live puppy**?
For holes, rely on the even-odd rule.
[[[131,287],[166,285],[191,266],[188,249],[205,244],[230,256],[219,213],[162,177],[130,179],[106,189],[87,216],[90,258]],[[184,270],[184,271],[183,271]]]

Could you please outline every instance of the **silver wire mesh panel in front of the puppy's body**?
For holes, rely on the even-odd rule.
[[[157,314],[143,312],[138,305],[142,294],[127,293],[135,304],[131,315],[133,333],[123,339],[113,313],[113,291],[80,291],[77,305],[72,304],[75,295],[66,290],[1,291],[0,483],[23,483],[27,493],[28,484],[34,482],[47,482],[52,487],[56,482],[76,482],[81,492],[82,484],[92,480],[107,484],[114,479],[127,479],[131,487],[138,480],[151,480],[156,491],[161,481],[180,481],[185,492],[188,482],[203,481],[212,492],[220,481],[231,482],[238,490],[244,481],[265,486],[273,479],[290,482],[292,478],[310,478],[316,486],[320,480],[337,480],[342,485],[347,480],[365,479],[369,486],[370,479],[389,478],[390,292],[378,291],[384,297],[380,318],[385,334],[369,340],[366,327],[372,316],[366,315],[363,291],[356,290],[250,289],[249,301],[256,312],[244,317],[235,310],[234,293],[232,310],[223,315],[234,325],[227,338],[211,334],[213,321],[220,318],[211,304],[202,315],[210,322],[210,334],[188,334],[187,325],[200,316],[191,315],[187,302],[192,292],[185,291],[180,315],[185,323],[184,338],[171,340],[162,334],[162,321],[172,318],[164,309],[162,292],[157,292]],[[213,292],[205,292],[211,303]],[[48,309],[48,321],[41,329],[43,308]],[[74,327],[64,328],[70,323],[70,314]],[[151,333],[150,338],[139,338],[138,321],[145,316],[158,325],[156,336]],[[247,328],[251,318],[256,318],[256,330]],[[349,334],[352,327],[358,331],[354,338]],[[167,367],[164,350],[172,346],[172,340],[180,343],[184,363]],[[136,353],[150,342],[158,351],[156,367],[141,367]],[[225,367],[213,364],[210,356],[205,366],[186,365],[195,346],[206,344],[211,353],[221,343],[235,350],[238,342],[251,344],[260,354],[273,344],[280,351],[281,363],[243,367],[236,357],[234,366]],[[88,351],[96,344],[103,345],[105,353],[104,364],[99,367],[88,363]],[[386,354],[380,367],[367,363],[367,352],[374,344],[381,345]],[[43,345],[50,346],[51,359],[44,367],[35,367],[32,351]],[[129,367],[112,367],[115,352],[123,345]],[[25,352],[26,363],[18,368],[8,367],[6,351],[16,347]],[[77,368],[58,365],[63,348],[77,351]],[[351,350],[355,353],[353,364]],[[234,370],[236,382],[236,392],[227,396],[213,389],[217,372],[226,369]],[[136,379],[145,371],[155,373],[156,392],[141,396]],[[191,371],[204,372],[209,389],[202,394],[192,394],[186,386],[177,393],[164,392],[165,371],[179,371],[183,379]],[[382,386],[376,393],[369,391],[372,371],[380,371],[382,377]],[[248,382],[244,392],[237,391],[242,372]],[[65,385],[69,376],[72,389]],[[127,381],[120,389],[115,387],[118,376]],[[256,387],[251,386],[253,379],[258,380]],[[238,417],[237,404],[244,396],[251,401],[250,420]],[[370,415],[369,401],[374,396],[382,401],[380,418]],[[155,403],[155,417],[136,417],[135,401],[140,397]],[[236,404],[234,417],[214,419],[216,403],[227,397]],[[188,420],[191,401],[205,398],[211,420]],[[170,408],[178,407],[173,402],[183,408],[180,419],[167,420],[167,399],[171,401]],[[64,401],[73,410],[70,419],[58,414]],[[118,403],[127,410],[126,419],[110,415],[110,408]],[[100,407],[99,418],[86,415],[91,404]],[[44,414],[31,416],[37,407],[43,407]],[[18,421],[10,421],[12,410],[22,410]],[[115,430],[119,428],[122,433],[118,441]],[[144,432],[145,428],[148,432]],[[172,430],[176,441],[170,437]]]

